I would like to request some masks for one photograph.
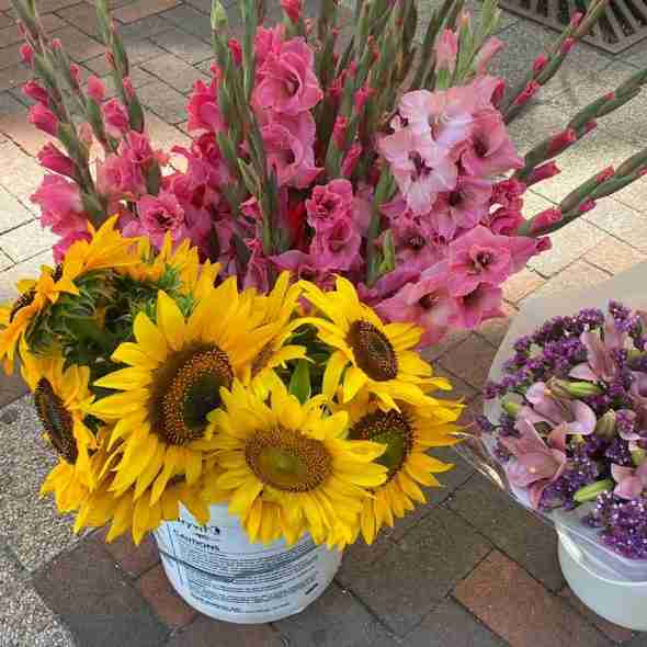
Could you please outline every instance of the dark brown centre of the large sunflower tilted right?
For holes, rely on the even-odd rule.
[[[156,429],[172,445],[185,445],[203,438],[207,415],[220,406],[220,387],[231,386],[234,370],[218,347],[181,353],[171,368],[160,381]]]

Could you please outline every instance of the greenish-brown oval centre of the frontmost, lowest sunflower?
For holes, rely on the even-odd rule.
[[[332,457],[321,441],[290,429],[257,431],[245,458],[257,478],[288,492],[308,492],[332,474]]]

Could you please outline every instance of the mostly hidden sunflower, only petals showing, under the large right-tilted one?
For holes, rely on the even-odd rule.
[[[81,503],[75,532],[84,527],[101,527],[110,524],[105,537],[113,542],[128,530],[133,542],[139,545],[145,534],[155,531],[162,521],[177,521],[182,503],[201,524],[208,522],[208,507],[203,498],[204,483],[198,480],[190,486],[185,478],[177,477],[169,483],[162,496],[152,501],[152,487],[148,485],[141,491],[133,486],[125,490],[113,489],[115,473],[112,470],[121,451],[107,451],[111,430],[100,432],[100,450],[97,453],[99,481],[97,488]]]

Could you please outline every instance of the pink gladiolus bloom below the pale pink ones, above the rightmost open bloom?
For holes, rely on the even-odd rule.
[[[434,227],[445,239],[452,240],[459,229],[470,229],[487,215],[492,185],[481,178],[459,175],[456,188],[442,193],[432,209]]]

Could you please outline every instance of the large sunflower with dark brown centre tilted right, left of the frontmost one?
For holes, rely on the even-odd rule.
[[[228,279],[200,300],[186,318],[164,292],[158,293],[155,321],[139,313],[134,342],[117,347],[112,359],[128,366],[94,385],[122,393],[97,400],[89,411],[114,423],[110,447],[121,443],[116,496],[133,486],[135,506],[150,489],[156,506],[168,487],[185,479],[193,486],[209,449],[206,416],[220,406],[246,363],[268,342],[264,328],[249,327],[249,304],[240,303],[236,280]]]

